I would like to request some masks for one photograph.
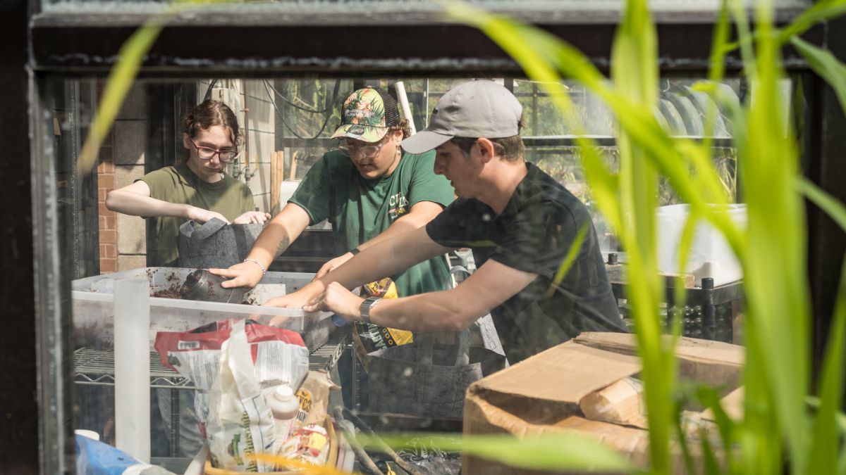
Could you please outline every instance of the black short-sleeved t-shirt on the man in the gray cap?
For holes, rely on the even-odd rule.
[[[587,208],[534,165],[527,163],[526,168],[501,215],[478,199],[457,199],[426,225],[436,243],[472,248],[478,267],[493,259],[537,274],[525,289],[491,310],[512,364],[582,331],[628,331]],[[578,256],[547,298],[559,266],[585,225]]]

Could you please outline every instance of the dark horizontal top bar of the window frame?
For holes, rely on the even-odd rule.
[[[798,14],[793,8],[778,10],[777,21],[788,22]],[[381,17],[386,20],[376,20]],[[607,71],[618,12],[530,11],[515,17],[569,41]],[[144,19],[138,14],[36,14],[30,30],[33,67],[38,72],[105,73],[118,57],[119,46]],[[714,13],[701,11],[656,14],[659,67],[663,71],[706,70],[714,19]],[[366,25],[366,39],[356,41],[362,25]],[[811,42],[821,42],[819,29],[807,36]],[[789,49],[784,62],[788,68],[805,67]],[[741,66],[737,55],[729,55],[727,63],[729,70]],[[398,12],[390,17],[370,12],[181,14],[162,30],[144,66],[146,77],[180,77],[199,71],[225,77],[234,70],[239,77],[316,73],[374,77],[398,71],[406,76],[523,75],[481,31],[431,12]]]

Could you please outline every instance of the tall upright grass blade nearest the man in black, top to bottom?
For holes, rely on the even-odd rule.
[[[611,73],[614,89],[624,101],[648,119],[653,130],[660,129],[651,111],[658,91],[656,32],[645,1],[626,3],[623,21],[614,37]],[[618,116],[620,114],[618,113]],[[665,132],[633,139],[627,128],[618,135],[620,154],[620,203],[624,216],[634,230],[632,240],[624,243],[629,253],[629,273],[638,276],[629,280],[627,293],[633,308],[637,350],[643,361],[646,417],[649,421],[651,469],[657,473],[672,470],[669,440],[673,427],[675,374],[674,352],[661,341],[662,322],[659,302],[662,281],[658,276],[656,254],[656,217],[658,174],[649,150],[668,145]],[[672,151],[671,151],[672,153]]]

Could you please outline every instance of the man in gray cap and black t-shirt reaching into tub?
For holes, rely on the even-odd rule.
[[[426,227],[365,249],[279,303],[405,330],[461,330],[490,311],[510,363],[581,331],[628,331],[591,216],[560,183],[524,161],[521,115],[514,95],[492,81],[449,90],[429,127],[403,148],[436,149],[435,172],[459,199]],[[568,272],[557,278],[579,242]],[[473,249],[479,268],[452,290],[390,301],[347,290],[462,247]]]

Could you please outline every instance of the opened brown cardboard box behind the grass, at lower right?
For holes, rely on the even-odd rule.
[[[630,425],[585,418],[585,396],[640,373],[634,336],[583,333],[523,362],[476,381],[464,400],[464,435],[514,434],[518,438],[578,431],[618,450],[640,467],[649,460],[649,434]],[[680,377],[728,390],[737,387],[743,348],[716,341],[682,338],[678,343]],[[695,452],[695,450],[694,450]],[[694,453],[694,456],[696,454]],[[683,470],[681,457],[673,465]],[[464,455],[462,473],[545,473],[508,467]]]

